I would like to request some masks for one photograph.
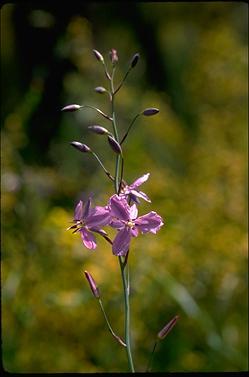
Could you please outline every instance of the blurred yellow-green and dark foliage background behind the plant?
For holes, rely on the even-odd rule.
[[[36,4],[35,4],[36,3]],[[102,292],[123,336],[118,259],[104,239],[84,248],[70,225],[75,203],[104,205],[113,185],[96,160],[69,145],[88,144],[113,172],[100,51],[116,48],[125,179],[150,172],[141,189],[165,225],[132,241],[134,362],[146,369],[155,335],[180,319],[156,350],[153,371],[248,370],[248,6],[243,2],[35,2],[1,8],[2,363],[9,372],[125,372],[125,351],[109,334],[83,271]],[[63,4],[63,3],[62,3]]]

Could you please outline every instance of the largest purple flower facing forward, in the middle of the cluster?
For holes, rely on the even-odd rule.
[[[131,238],[137,237],[139,232],[156,233],[163,225],[161,216],[154,211],[137,217],[136,204],[129,206],[122,196],[113,195],[109,201],[109,208],[113,217],[110,225],[118,230],[112,244],[112,252],[117,256],[126,255]]]

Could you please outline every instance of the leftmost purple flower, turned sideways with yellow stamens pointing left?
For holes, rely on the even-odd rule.
[[[80,200],[74,210],[73,222],[75,224],[67,230],[74,229],[73,233],[79,231],[85,247],[87,249],[95,249],[97,244],[92,232],[106,234],[101,227],[110,222],[109,209],[100,206],[91,208],[91,198],[86,201],[85,205]]]

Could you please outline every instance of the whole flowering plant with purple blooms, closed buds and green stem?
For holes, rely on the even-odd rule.
[[[130,278],[129,278],[129,253],[130,253],[130,243],[136,238],[139,234],[153,233],[156,234],[157,231],[161,228],[163,219],[156,212],[150,211],[145,215],[138,215],[137,204],[140,203],[140,199],[145,200],[148,203],[151,203],[150,198],[143,192],[140,191],[139,186],[146,182],[150,176],[150,173],[143,174],[139,178],[135,179],[132,183],[128,184],[123,179],[124,176],[124,154],[122,144],[127,139],[135,121],[141,115],[144,116],[153,116],[159,112],[155,107],[146,108],[145,110],[136,114],[132,119],[126,133],[120,141],[116,111],[115,111],[115,98],[118,91],[121,89],[123,83],[125,82],[130,71],[135,68],[137,65],[140,55],[136,53],[129,64],[129,68],[124,75],[123,79],[119,85],[115,88],[114,85],[114,76],[115,70],[119,61],[119,57],[116,49],[112,49],[109,53],[111,61],[111,74],[109,74],[105,59],[103,55],[97,51],[93,50],[95,58],[103,65],[105,70],[105,75],[109,80],[109,89],[105,89],[102,86],[95,88],[97,93],[107,92],[110,100],[111,115],[107,115],[102,110],[90,106],[90,105],[78,105],[71,104],[64,106],[61,111],[63,112],[75,112],[83,108],[94,109],[103,116],[108,121],[111,121],[112,124],[112,133],[109,132],[107,128],[104,128],[100,125],[88,126],[88,130],[94,134],[102,135],[102,138],[106,138],[107,143],[111,147],[115,156],[115,172],[112,175],[104,166],[103,162],[99,156],[86,144],[82,144],[78,141],[73,141],[70,144],[82,153],[91,153],[94,158],[98,161],[99,165],[107,175],[107,177],[114,184],[114,194],[110,197],[107,205],[105,206],[95,206],[92,207],[92,198],[88,197],[86,200],[79,200],[75,206],[74,217],[72,220],[73,225],[69,226],[67,229],[72,230],[72,233],[80,234],[81,240],[84,246],[87,249],[94,250],[97,247],[96,236],[103,237],[110,245],[112,253],[114,256],[118,257],[122,287],[123,287],[123,300],[124,300],[124,340],[116,335],[111,327],[110,321],[107,317],[107,314],[104,310],[102,297],[100,291],[97,287],[95,280],[92,275],[85,272],[85,277],[88,281],[90,289],[93,296],[98,300],[100,309],[105,318],[108,330],[126,349],[127,360],[129,365],[129,370],[132,373],[135,373],[135,367],[133,362],[132,347],[131,347],[131,328],[130,328]],[[116,235],[113,240],[109,238],[108,233],[102,229],[105,226],[112,227],[116,229]],[[156,349],[157,343],[164,339],[167,334],[174,327],[178,317],[175,316],[166,326],[163,327],[161,331],[157,334],[156,342],[151,354],[151,358],[148,365],[148,370],[150,364],[152,363],[152,358]]]

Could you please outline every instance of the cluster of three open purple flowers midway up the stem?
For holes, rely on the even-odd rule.
[[[91,198],[85,204],[80,200],[75,207],[74,224],[68,229],[73,229],[73,232],[79,231],[85,247],[95,249],[97,244],[93,233],[106,237],[107,233],[102,227],[111,226],[117,230],[112,242],[112,252],[116,256],[125,256],[132,237],[137,237],[139,233],[155,234],[163,225],[161,216],[154,211],[138,217],[138,198],[150,202],[148,196],[137,189],[148,177],[149,173],[129,186],[123,184],[120,194],[112,195],[105,207],[91,208]],[[134,203],[131,205],[132,201]]]

